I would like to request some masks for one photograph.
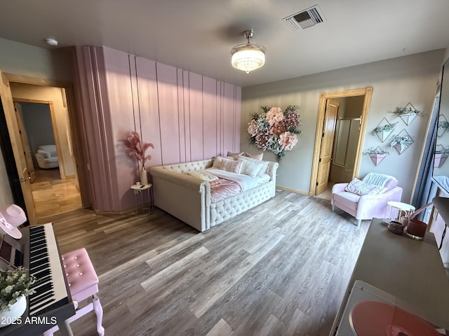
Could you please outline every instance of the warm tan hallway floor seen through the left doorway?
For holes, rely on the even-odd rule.
[[[36,169],[31,184],[37,218],[63,214],[82,207],[79,186],[74,178],[61,180],[58,168]]]

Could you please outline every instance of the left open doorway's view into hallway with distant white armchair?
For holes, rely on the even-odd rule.
[[[38,219],[82,207],[68,116],[61,109],[63,105],[18,98],[30,94],[32,97],[51,98],[49,94],[55,90],[60,91],[58,88],[41,90],[32,85],[11,85],[19,127],[22,125],[20,134],[26,142],[22,146],[29,158],[28,172],[33,172],[30,183]],[[56,98],[60,98],[59,94]]]

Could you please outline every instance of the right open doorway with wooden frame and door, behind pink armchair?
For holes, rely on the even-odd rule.
[[[330,200],[333,183],[358,174],[372,87],[321,94],[309,195]]]

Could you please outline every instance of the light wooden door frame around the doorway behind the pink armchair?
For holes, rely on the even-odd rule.
[[[318,166],[321,153],[321,136],[323,133],[324,113],[326,111],[327,100],[333,98],[365,96],[365,99],[363,99],[363,109],[361,115],[360,135],[358,137],[358,144],[357,144],[356,160],[354,162],[354,172],[352,174],[352,178],[354,179],[354,177],[358,175],[358,169],[360,168],[361,152],[363,149],[363,141],[365,140],[366,122],[368,120],[368,113],[370,110],[372,95],[373,95],[373,87],[365,87],[362,89],[354,89],[354,90],[323,92],[320,94],[318,117],[316,121],[314,158],[311,167],[309,196],[315,195],[316,191],[316,179],[318,177]]]

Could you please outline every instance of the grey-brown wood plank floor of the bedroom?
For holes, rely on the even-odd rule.
[[[91,256],[108,336],[328,335],[369,226],[285,190],[202,233],[157,208],[51,221],[61,253]],[[74,335],[97,335],[94,316]]]

